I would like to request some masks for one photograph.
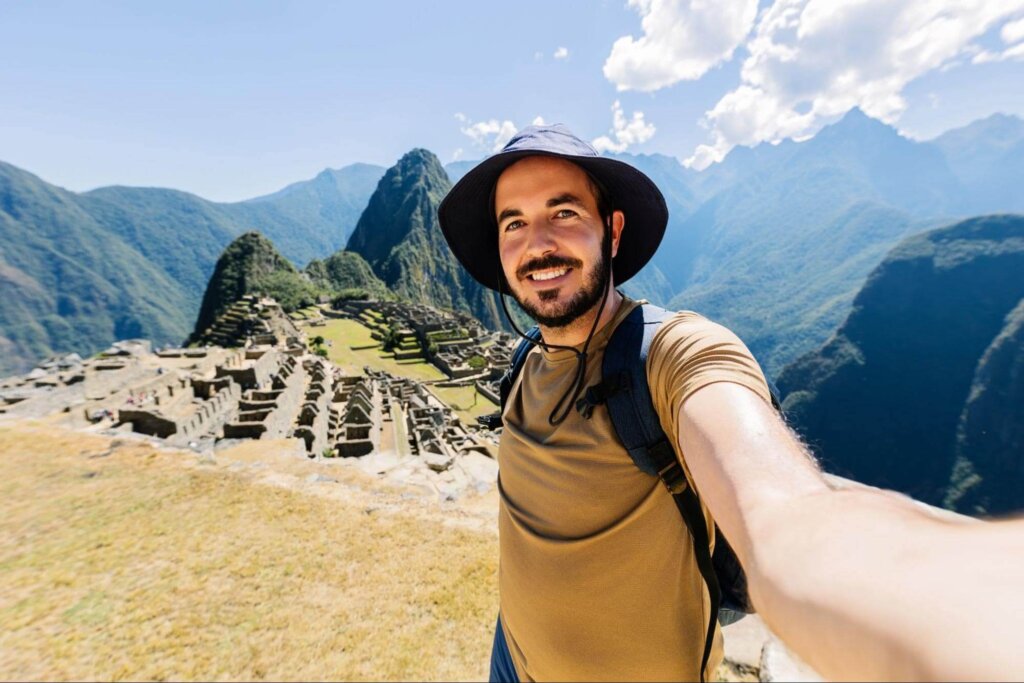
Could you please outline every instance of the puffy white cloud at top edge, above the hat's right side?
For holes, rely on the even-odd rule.
[[[618,90],[649,92],[693,81],[732,57],[754,26],[758,0],[629,0],[644,35],[611,46],[604,77]]]

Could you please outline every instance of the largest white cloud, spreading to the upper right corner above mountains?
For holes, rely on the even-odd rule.
[[[1024,0],[775,0],[746,42],[742,82],[705,116],[710,143],[686,164],[705,168],[736,144],[809,137],[854,106],[895,123],[909,82],[972,55],[991,60],[974,41],[1022,9]],[[1015,24],[1004,27],[1011,37]]]

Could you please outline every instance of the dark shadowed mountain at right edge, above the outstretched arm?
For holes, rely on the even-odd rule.
[[[1020,311],[1008,317],[1022,271],[1022,216],[972,218],[889,254],[831,339],[778,379],[790,420],[828,469],[980,507],[1006,501],[988,486],[1016,462],[1007,485],[1024,505],[1021,403],[1001,400],[1024,391]]]

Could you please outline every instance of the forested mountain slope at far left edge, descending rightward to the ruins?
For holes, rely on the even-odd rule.
[[[117,339],[180,341],[188,292],[113,232],[81,197],[0,163],[0,376],[55,350]]]

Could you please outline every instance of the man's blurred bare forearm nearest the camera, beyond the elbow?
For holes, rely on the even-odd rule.
[[[1024,522],[937,521],[869,490],[763,513],[751,527],[755,604],[824,676],[1024,676]]]

